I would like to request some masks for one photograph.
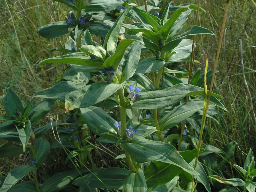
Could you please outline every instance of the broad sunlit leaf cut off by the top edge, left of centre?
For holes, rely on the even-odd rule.
[[[121,0],[93,0],[83,11],[87,13],[107,13],[120,7],[124,2]]]

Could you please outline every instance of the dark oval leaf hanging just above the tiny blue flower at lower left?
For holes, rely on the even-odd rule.
[[[50,152],[50,143],[39,137],[35,141],[34,148],[36,151],[36,167],[40,167]]]

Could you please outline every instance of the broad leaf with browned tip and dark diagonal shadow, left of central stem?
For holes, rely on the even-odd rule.
[[[97,82],[84,86],[66,94],[65,108],[67,110],[73,110],[92,106],[110,97],[121,86],[122,84],[107,84],[106,82]]]

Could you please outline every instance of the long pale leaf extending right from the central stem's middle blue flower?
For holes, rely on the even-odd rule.
[[[193,91],[202,90],[202,88],[185,85],[182,83],[176,84],[173,87],[158,90],[158,91],[148,91],[142,92],[139,101],[133,103],[133,105],[127,108],[135,109],[159,109],[170,105],[174,105],[182,100],[187,94]]]

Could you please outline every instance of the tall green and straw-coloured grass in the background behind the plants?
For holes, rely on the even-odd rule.
[[[136,1],[143,5],[143,1]],[[197,1],[174,0],[173,5],[197,4]],[[199,13],[199,24],[214,32],[214,36],[198,35],[196,39],[194,70],[198,67],[204,69],[205,55],[208,56],[209,69],[213,69],[217,52],[219,34],[221,30],[226,1],[202,0],[200,7],[204,11]],[[60,64],[41,65],[36,69],[39,61],[57,56],[56,52],[49,51],[57,47],[63,47],[68,39],[67,36],[45,39],[37,34],[39,26],[51,22],[63,21],[69,11],[68,7],[56,4],[50,0],[0,0],[0,90],[10,87],[23,101],[42,89],[53,86],[62,76],[67,66]],[[235,155],[230,160],[230,167],[223,171],[228,178],[239,177],[232,164],[243,165],[245,155],[250,147],[256,154],[256,127],[254,124],[253,112],[250,108],[250,100],[244,85],[241,68],[241,57],[239,39],[242,39],[243,61],[245,76],[252,95],[254,112],[256,108],[256,11],[248,0],[231,0],[226,22],[224,37],[222,40],[221,52],[216,74],[215,88],[224,97],[222,103],[228,112],[218,116],[219,124],[208,119],[207,137],[205,144],[211,144],[223,148],[230,141],[236,142]],[[195,13],[191,14],[187,25],[195,23]],[[189,63],[185,68],[189,68]],[[183,66],[184,67],[184,66]],[[194,71],[195,72],[195,71]],[[46,116],[39,121],[44,125],[50,121],[49,118],[64,118],[63,103],[58,102]],[[5,114],[0,103],[0,114]],[[49,133],[50,134],[50,133]],[[48,139],[53,137],[48,135]],[[0,144],[1,141],[0,141]],[[102,148],[102,146],[99,146]],[[113,147],[114,148],[114,147]],[[102,148],[104,151],[107,149]],[[46,174],[53,174],[67,170],[64,166],[66,155],[63,152],[55,151],[50,154],[45,167],[56,165],[51,173],[41,171],[42,178]],[[103,151],[98,150],[97,155],[105,156]],[[19,157],[0,159],[0,174],[7,175],[9,170],[28,164],[29,158],[26,154]],[[101,162],[102,164],[108,164]],[[63,166],[62,166],[63,165]],[[47,169],[49,171],[49,169]],[[2,175],[0,175],[2,176]]]

